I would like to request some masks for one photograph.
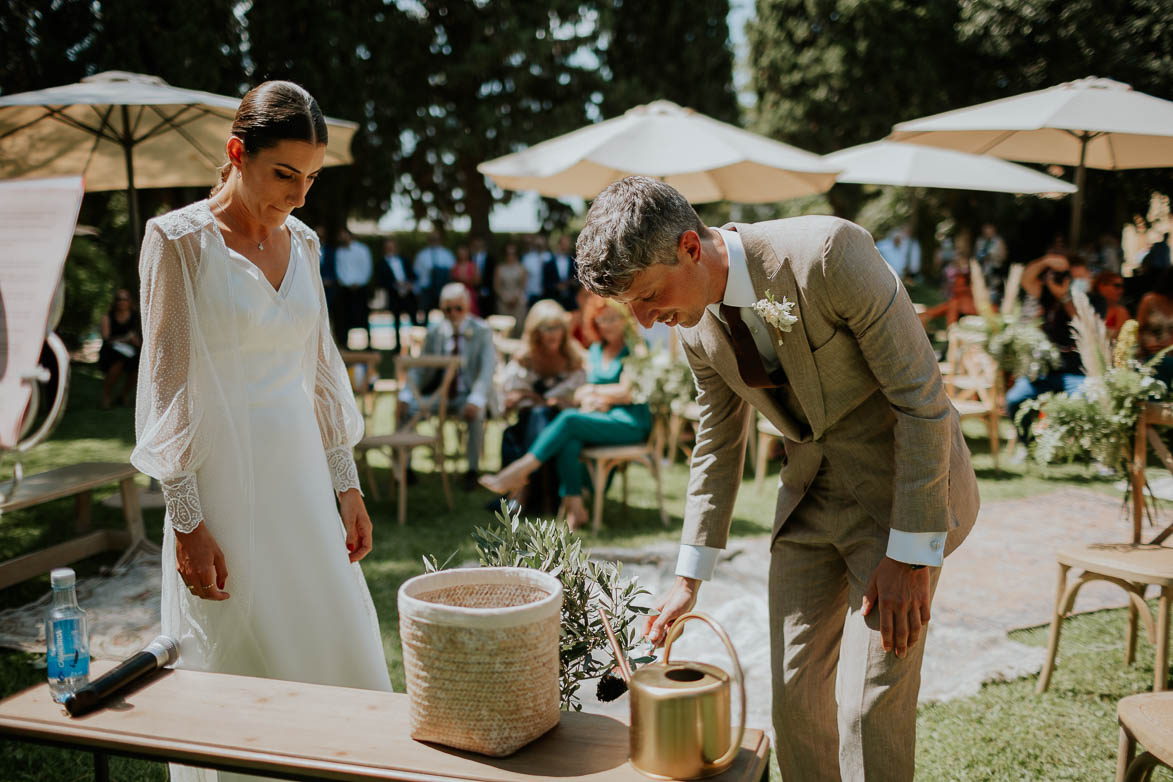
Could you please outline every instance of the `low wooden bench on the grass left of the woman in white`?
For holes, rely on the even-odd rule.
[[[124,550],[123,564],[140,548],[154,548],[143,529],[142,508],[138,503],[138,475],[130,464],[122,462],[84,462],[47,472],[26,476],[13,489],[13,482],[0,483],[0,515],[32,508],[62,497],[74,497],[77,537],[40,551],[0,563],[0,589],[84,559],[101,551]],[[122,512],[127,521],[123,530],[90,531],[93,495],[95,488],[118,483],[122,490]]]

